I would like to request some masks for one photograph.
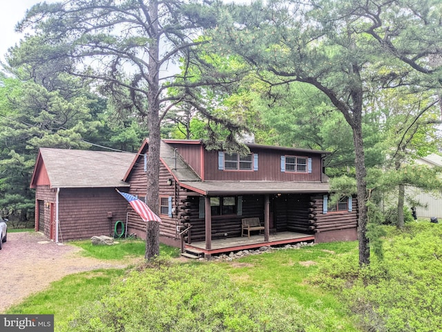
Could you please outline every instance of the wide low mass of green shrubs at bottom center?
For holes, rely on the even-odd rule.
[[[209,264],[133,270],[99,302],[75,313],[69,331],[336,331],[327,308],[259,290],[241,292]]]

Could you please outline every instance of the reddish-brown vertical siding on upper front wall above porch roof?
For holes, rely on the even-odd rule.
[[[218,169],[218,151],[204,151],[205,181],[320,181],[321,158],[318,154],[299,154],[300,157],[311,158],[311,173],[281,172],[281,156],[285,151],[269,151],[256,149],[251,153],[258,154],[258,171],[225,171]],[[292,156],[291,154],[289,156]]]

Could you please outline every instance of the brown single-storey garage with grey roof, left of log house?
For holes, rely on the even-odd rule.
[[[122,178],[135,154],[39,149],[30,183],[35,188],[35,230],[55,242],[111,236],[126,221]]]

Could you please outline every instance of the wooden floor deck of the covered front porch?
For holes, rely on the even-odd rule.
[[[269,241],[264,241],[264,234],[251,235],[250,237],[233,237],[228,239],[212,240],[212,248],[207,250],[204,241],[185,244],[184,248],[193,252],[204,253],[204,255],[220,254],[238,250],[256,249],[262,246],[280,246],[282,244],[298,243],[303,241],[314,241],[312,234],[297,232],[277,232],[270,234]]]

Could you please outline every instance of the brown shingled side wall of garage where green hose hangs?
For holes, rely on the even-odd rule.
[[[126,206],[114,188],[61,188],[59,241],[112,236],[116,221],[126,223]],[[111,221],[108,212],[113,214]]]

